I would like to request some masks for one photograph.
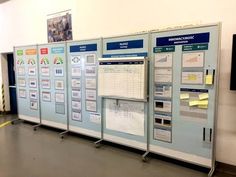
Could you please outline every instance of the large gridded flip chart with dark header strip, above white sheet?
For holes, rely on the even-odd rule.
[[[135,59],[117,60],[99,63],[98,95],[145,99],[144,61]]]

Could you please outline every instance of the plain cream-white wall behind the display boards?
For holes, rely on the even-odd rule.
[[[0,52],[47,42],[46,15],[72,9],[74,39],[183,23],[222,22],[217,160],[236,165],[236,92],[229,91],[235,0],[11,0],[0,5]]]

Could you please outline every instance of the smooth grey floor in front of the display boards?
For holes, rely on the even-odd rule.
[[[0,117],[0,123],[12,116]],[[77,136],[61,140],[55,130],[20,123],[0,128],[0,177],[206,177],[181,165]],[[216,174],[223,177],[223,174]],[[229,175],[226,175],[230,177]]]

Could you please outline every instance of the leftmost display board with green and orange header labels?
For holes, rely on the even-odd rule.
[[[37,46],[14,48],[20,119],[40,123]]]

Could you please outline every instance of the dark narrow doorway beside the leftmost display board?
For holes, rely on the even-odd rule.
[[[7,54],[7,65],[10,95],[10,113],[17,114],[16,79],[13,54]]]

